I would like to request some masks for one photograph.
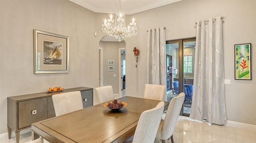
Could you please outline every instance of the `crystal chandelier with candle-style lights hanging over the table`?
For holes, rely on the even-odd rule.
[[[130,25],[126,28],[125,15],[121,12],[121,0],[119,0],[119,6],[120,9],[119,12],[116,13],[116,21],[112,19],[111,14],[110,19],[105,20],[104,24],[102,24],[102,31],[105,36],[115,37],[120,42],[127,38],[133,39],[137,34],[137,27],[133,18]]]

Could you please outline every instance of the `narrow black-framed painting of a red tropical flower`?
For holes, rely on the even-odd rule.
[[[235,79],[251,80],[251,43],[235,45]]]

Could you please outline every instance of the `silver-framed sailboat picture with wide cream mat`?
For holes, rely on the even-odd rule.
[[[69,37],[34,29],[34,73],[68,72]]]

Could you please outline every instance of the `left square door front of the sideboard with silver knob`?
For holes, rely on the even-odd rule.
[[[47,119],[46,98],[18,102],[18,129]]]

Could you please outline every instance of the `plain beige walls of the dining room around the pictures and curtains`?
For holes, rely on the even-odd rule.
[[[224,16],[225,79],[231,80],[225,86],[227,118],[256,125],[256,1],[182,0],[126,20],[133,16],[138,34],[126,40],[126,95],[142,97],[144,92],[148,29],[165,26],[167,40],[194,37],[195,22]],[[7,132],[8,96],[45,92],[49,86],[98,87],[99,41],[106,17],[68,0],[0,0],[0,134]],[[34,74],[33,29],[70,37],[69,73]],[[252,80],[234,80],[234,44],[240,43],[252,43]],[[140,50],[138,79],[133,47]],[[94,92],[94,104],[95,97]]]

